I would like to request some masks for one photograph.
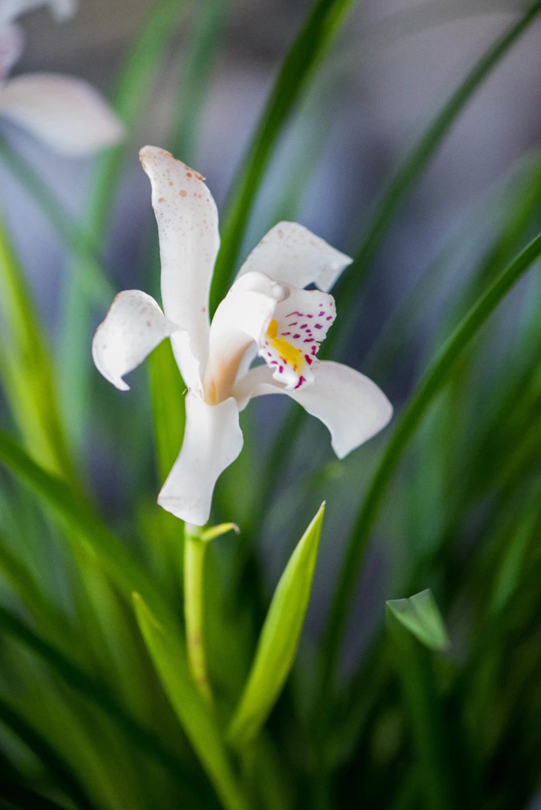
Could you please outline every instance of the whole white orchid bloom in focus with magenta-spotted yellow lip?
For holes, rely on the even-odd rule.
[[[339,458],[384,428],[393,409],[363,374],[317,360],[336,316],[326,291],[350,258],[302,225],[281,222],[248,256],[211,323],[220,243],[213,196],[169,152],[144,147],[140,158],[152,183],[164,312],[145,292],[121,292],[97,329],[92,356],[109,382],[127,390],[124,375],[170,338],[188,386],[186,431],[158,503],[203,526],[218,476],[243,447],[238,414],[253,397],[290,396],[327,426]],[[303,289],[311,283],[319,289]],[[257,355],[264,364],[251,369]]]

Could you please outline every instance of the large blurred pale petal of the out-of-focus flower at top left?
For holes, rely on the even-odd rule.
[[[0,87],[0,114],[66,157],[92,155],[118,143],[124,131],[97,90],[71,76],[10,79]]]

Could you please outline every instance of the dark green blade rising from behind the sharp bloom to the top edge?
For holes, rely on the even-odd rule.
[[[316,0],[286,54],[232,187],[214,271],[211,313],[227,292],[255,196],[281,132],[352,5],[353,0]]]

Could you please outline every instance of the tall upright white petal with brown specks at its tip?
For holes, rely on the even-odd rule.
[[[168,151],[143,147],[140,159],[160,237],[161,300],[167,317],[187,332],[189,343],[174,341],[175,356],[187,385],[195,386],[192,357],[200,376],[208,357],[208,291],[220,246],[216,203],[201,175]]]

